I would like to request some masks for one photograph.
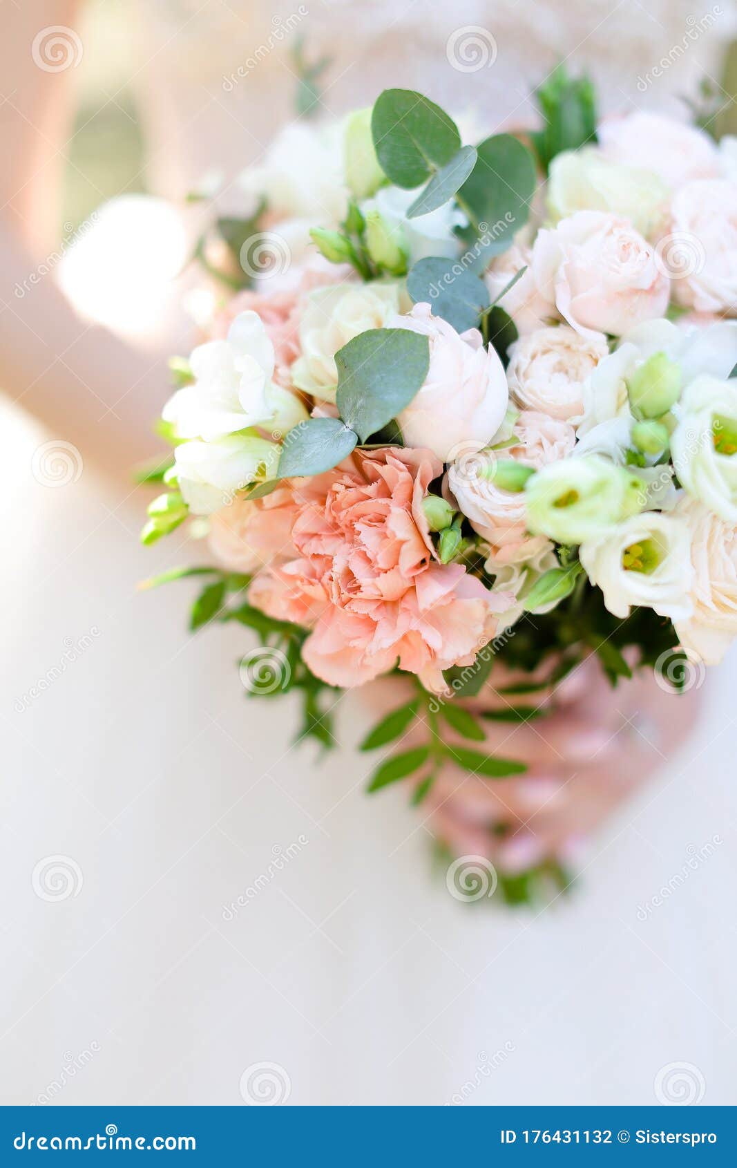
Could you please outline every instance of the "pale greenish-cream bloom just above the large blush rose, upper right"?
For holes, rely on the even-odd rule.
[[[646,239],[665,221],[670,190],[653,171],[614,162],[597,146],[563,151],[550,164],[548,210],[554,222],[575,211],[610,211]]]

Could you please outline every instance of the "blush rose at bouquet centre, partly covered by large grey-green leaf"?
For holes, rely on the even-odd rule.
[[[425,383],[397,419],[408,446],[424,446],[444,463],[461,443],[486,446],[503,420],[509,394],[505,367],[491,346],[484,348],[478,328],[459,334],[433,317],[429,304],[392,317],[387,327],[430,339]]]

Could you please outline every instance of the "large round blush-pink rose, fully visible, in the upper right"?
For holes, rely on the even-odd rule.
[[[670,281],[653,248],[628,220],[605,211],[576,211],[533,248],[533,274],[542,294],[579,333],[621,336],[662,317]]]

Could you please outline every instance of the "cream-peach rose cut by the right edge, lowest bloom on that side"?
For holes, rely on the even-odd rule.
[[[737,531],[695,499],[674,513],[690,533],[693,614],[677,620],[681,645],[704,665],[718,665],[737,637]]]

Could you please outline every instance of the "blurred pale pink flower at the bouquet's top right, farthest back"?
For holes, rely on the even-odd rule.
[[[659,113],[607,118],[597,137],[605,158],[654,171],[669,187],[719,173],[719,155],[705,131]]]

